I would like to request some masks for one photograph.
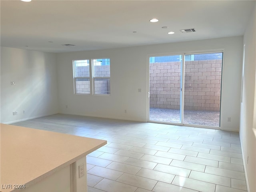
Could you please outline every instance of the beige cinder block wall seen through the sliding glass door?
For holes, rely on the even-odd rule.
[[[184,109],[220,111],[222,60],[186,61]],[[180,109],[180,62],[150,63],[150,107]]]

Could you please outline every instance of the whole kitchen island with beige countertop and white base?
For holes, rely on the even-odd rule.
[[[86,192],[86,155],[106,143],[0,124],[0,191]]]

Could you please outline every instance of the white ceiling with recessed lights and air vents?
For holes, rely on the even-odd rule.
[[[255,3],[255,0],[1,0],[0,43],[57,53],[240,36]],[[159,22],[151,23],[151,18],[158,18]],[[195,28],[196,32],[179,31],[187,28]],[[170,31],[175,34],[167,34]]]

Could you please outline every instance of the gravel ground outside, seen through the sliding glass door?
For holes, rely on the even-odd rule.
[[[180,122],[180,110],[150,108],[151,121]],[[220,112],[184,110],[184,123],[220,126]]]

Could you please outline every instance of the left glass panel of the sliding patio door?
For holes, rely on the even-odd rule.
[[[150,121],[181,123],[182,57],[150,57]]]

